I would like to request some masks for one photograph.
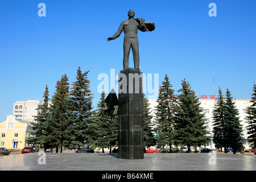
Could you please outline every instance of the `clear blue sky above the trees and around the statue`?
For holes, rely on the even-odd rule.
[[[39,17],[39,3],[46,17]],[[216,3],[217,16],[208,7]],[[189,81],[196,94],[251,98],[255,79],[256,1],[0,1],[0,121],[13,114],[16,101],[41,100],[46,85],[52,97],[65,73],[75,81],[77,68],[89,72],[93,104],[99,101],[100,73],[122,68],[123,36],[106,41],[135,11],[135,18],[155,22],[152,32],[138,32],[140,69],[167,73],[173,89]],[[130,67],[133,59],[130,55]],[[213,84],[214,70],[214,84]]]

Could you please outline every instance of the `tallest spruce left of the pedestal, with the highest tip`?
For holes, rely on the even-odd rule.
[[[76,81],[72,83],[72,88],[68,102],[68,113],[72,120],[71,144],[80,147],[91,142],[92,135],[92,99],[93,94],[90,91],[90,81],[88,80],[89,71],[82,73],[81,68],[77,69]]]

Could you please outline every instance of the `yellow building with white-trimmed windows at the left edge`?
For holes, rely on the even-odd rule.
[[[7,149],[22,149],[28,144],[26,137],[32,130],[31,119],[16,119],[14,115],[7,115],[6,121],[0,123],[0,147]]]

